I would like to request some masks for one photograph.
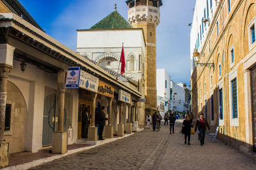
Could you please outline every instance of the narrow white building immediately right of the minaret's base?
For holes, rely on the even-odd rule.
[[[170,110],[170,76],[165,69],[156,69],[157,110],[164,116]]]

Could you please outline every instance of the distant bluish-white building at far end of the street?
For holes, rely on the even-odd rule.
[[[189,111],[190,106],[190,89],[184,83],[174,83],[170,81],[172,89],[171,110]]]

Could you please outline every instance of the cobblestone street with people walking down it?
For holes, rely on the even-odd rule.
[[[184,145],[179,134],[169,133],[169,125],[161,125],[160,132],[152,129],[54,160],[33,169],[256,169],[256,162],[222,143],[200,146],[197,134],[191,135],[191,145]]]

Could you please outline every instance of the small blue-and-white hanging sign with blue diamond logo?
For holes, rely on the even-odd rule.
[[[79,74],[80,74],[80,67],[68,67],[66,88],[79,87]]]

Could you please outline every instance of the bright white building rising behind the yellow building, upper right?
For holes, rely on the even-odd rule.
[[[195,13],[193,17],[191,32],[190,32],[190,62],[191,74],[195,67],[195,60],[193,59],[193,52],[198,50],[201,52],[204,45],[207,32],[214,14],[217,10],[218,3],[215,0],[196,1]],[[218,22],[216,23],[218,26]],[[214,42],[212,42],[213,44]],[[211,42],[209,42],[211,44]],[[204,60],[203,60],[204,62]]]

